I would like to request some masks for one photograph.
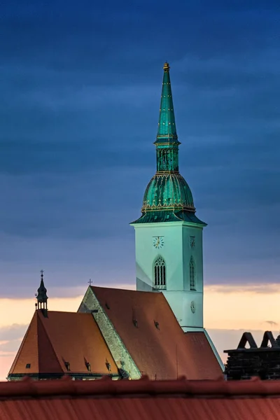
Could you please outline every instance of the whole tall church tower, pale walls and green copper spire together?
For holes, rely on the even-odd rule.
[[[165,63],[158,135],[157,172],[144,194],[135,229],[137,290],[165,294],[185,332],[203,330],[202,230],[193,195],[179,173],[179,145],[169,64]]]

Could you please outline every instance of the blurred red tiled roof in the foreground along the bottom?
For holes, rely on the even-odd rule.
[[[0,419],[280,419],[280,381],[66,379],[1,382]]]

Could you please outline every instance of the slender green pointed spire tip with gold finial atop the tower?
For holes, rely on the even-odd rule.
[[[179,143],[172,99],[172,88],[169,75],[169,64],[165,63],[163,69],[162,97],[160,101],[160,118],[158,121],[158,135],[155,144]]]

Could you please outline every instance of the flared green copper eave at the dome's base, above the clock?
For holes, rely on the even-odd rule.
[[[130,223],[131,225],[137,225],[141,223],[163,223],[163,222],[186,222],[194,223],[195,225],[207,226],[207,223],[202,222],[193,211],[172,211],[172,210],[154,210],[146,211],[142,216]]]

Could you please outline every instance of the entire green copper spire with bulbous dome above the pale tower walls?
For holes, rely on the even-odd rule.
[[[188,183],[179,173],[180,142],[176,132],[169,69],[169,64],[165,63],[160,119],[155,141],[157,172],[146,188],[142,216],[133,223],[185,221],[205,225],[195,216],[193,195]]]

